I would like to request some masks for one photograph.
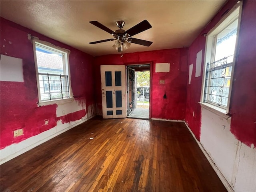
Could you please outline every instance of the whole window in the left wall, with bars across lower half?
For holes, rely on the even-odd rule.
[[[70,98],[68,51],[33,40],[39,102]]]

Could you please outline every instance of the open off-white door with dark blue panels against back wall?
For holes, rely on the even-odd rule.
[[[126,78],[124,65],[101,65],[102,116],[126,117]]]

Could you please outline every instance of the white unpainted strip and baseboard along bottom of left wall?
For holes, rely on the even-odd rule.
[[[74,124],[71,124],[66,128],[63,128],[64,124],[61,124],[61,122],[57,122],[57,126],[54,128],[51,128],[38,135],[27,138],[26,140],[23,140],[17,144],[12,144],[10,146],[7,146],[6,148],[0,150],[0,165],[58,136],[59,134],[66,132],[67,130],[70,130],[71,128],[77,125],[83,122],[86,122],[87,120],[93,118],[94,116],[95,115],[90,116],[89,118],[86,117],[82,120],[75,121]]]

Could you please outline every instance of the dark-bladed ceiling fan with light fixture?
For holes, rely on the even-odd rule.
[[[122,29],[125,25],[124,21],[117,21],[116,26],[118,26],[118,28],[120,28],[120,29],[115,30],[115,31],[112,31],[111,29],[102,25],[98,21],[90,21],[90,23],[114,36],[114,38],[100,40],[100,41],[94,41],[94,42],[90,42],[90,44],[96,44],[96,43],[102,43],[102,42],[116,40],[115,44],[113,45],[113,48],[118,50],[118,52],[121,52],[121,51],[128,49],[130,47],[130,43],[135,43],[135,44],[139,44],[139,45],[143,45],[143,46],[150,46],[153,43],[151,41],[146,41],[146,40],[136,39],[136,38],[131,37],[131,36],[134,36],[142,31],[152,28],[152,26],[150,25],[150,23],[147,20],[140,22],[139,24],[133,26],[132,28],[130,28],[128,30]]]

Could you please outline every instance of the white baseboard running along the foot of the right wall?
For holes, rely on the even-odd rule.
[[[188,124],[186,122],[185,122],[185,124],[186,124],[188,130],[190,131],[190,133],[192,134],[192,136],[194,137],[194,139],[196,140],[198,146],[200,147],[200,149],[204,153],[204,156],[206,157],[206,159],[208,160],[208,162],[210,163],[210,165],[212,166],[212,168],[214,169],[214,171],[216,172],[216,174],[220,178],[220,180],[223,183],[223,185],[225,186],[225,188],[228,190],[228,192],[234,192],[233,188],[230,186],[230,184],[228,183],[226,178],[223,176],[222,172],[216,166],[216,164],[214,163],[214,161],[212,160],[212,158],[210,157],[208,152],[206,152],[206,150],[204,149],[204,146],[202,146],[201,142],[196,139],[194,133],[191,131],[191,129],[189,128]]]

